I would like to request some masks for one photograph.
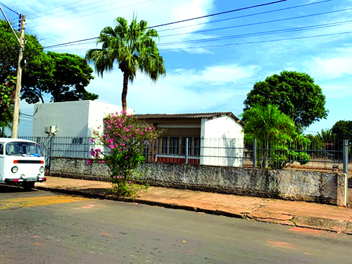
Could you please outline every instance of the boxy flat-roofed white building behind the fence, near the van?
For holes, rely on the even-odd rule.
[[[103,130],[103,118],[120,113],[121,106],[99,101],[36,103],[33,113],[32,140],[41,144],[45,156],[90,158],[94,130]],[[127,108],[127,113],[134,110]],[[98,129],[100,127],[100,129]]]

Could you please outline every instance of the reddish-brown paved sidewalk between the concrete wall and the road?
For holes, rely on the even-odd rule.
[[[352,234],[351,208],[160,187],[149,187],[136,199],[117,199],[106,194],[111,187],[108,182],[61,177],[47,179],[37,183],[37,189]]]

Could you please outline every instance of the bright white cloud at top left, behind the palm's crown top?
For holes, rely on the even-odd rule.
[[[65,42],[72,42],[78,39],[87,39],[96,37],[101,30],[106,26],[113,26],[113,21],[116,17],[122,16],[128,21],[132,19],[133,13],[137,15],[137,20],[146,20],[150,26],[160,25],[171,21],[185,20],[188,18],[199,17],[211,13],[214,8],[214,0],[179,0],[179,1],[162,1],[162,0],[129,0],[129,1],[94,1],[88,3],[86,1],[77,1],[76,4],[70,4],[70,1],[60,1],[57,4],[55,1],[16,1],[16,6],[30,13],[27,16],[27,32],[30,34],[37,34],[39,39],[43,39],[44,46],[51,46],[53,44],[61,44]],[[95,4],[93,4],[95,3]],[[113,4],[115,3],[115,4]],[[23,4],[23,6],[21,6]],[[70,5],[68,5],[70,4]],[[39,13],[35,15],[35,10],[50,9],[55,6],[63,6],[62,8],[52,9],[50,11]],[[86,6],[83,6],[86,5]],[[108,6],[104,6],[108,5]],[[81,6],[75,9],[75,7]],[[101,7],[99,7],[101,6]],[[87,10],[93,8],[92,10]],[[118,9],[115,9],[118,8]],[[84,11],[87,10],[87,11]],[[84,11],[84,12],[78,12]],[[100,13],[103,11],[102,13]],[[34,13],[31,15],[31,13]],[[54,13],[54,14],[52,14]],[[95,13],[95,14],[94,14]],[[46,15],[48,14],[48,15]],[[82,17],[81,17],[82,16]],[[80,18],[81,17],[81,18]],[[74,19],[71,19],[74,18]],[[201,30],[206,25],[196,25],[204,23],[208,18],[201,20],[191,20],[175,25],[157,27],[160,30],[160,35],[179,34],[173,37],[161,37],[161,42],[182,42],[184,40],[202,38],[202,34],[182,34]],[[57,23],[53,23],[57,22]],[[187,27],[184,27],[187,26]],[[174,27],[184,27],[178,30],[170,30]],[[209,36],[207,36],[209,37]],[[187,47],[192,44],[175,44],[165,46],[164,49],[172,49],[177,46]],[[87,49],[94,48],[95,41],[90,44],[80,44],[77,46],[61,47],[51,49],[52,51],[70,52],[80,56],[84,56]],[[194,46],[194,44],[192,45]],[[189,49],[189,53],[209,53],[205,49]]]

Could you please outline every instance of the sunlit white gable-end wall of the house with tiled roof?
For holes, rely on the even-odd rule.
[[[241,167],[244,134],[232,117],[222,115],[201,120],[201,164]]]

